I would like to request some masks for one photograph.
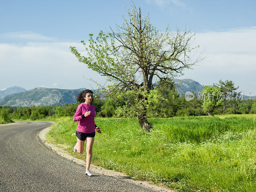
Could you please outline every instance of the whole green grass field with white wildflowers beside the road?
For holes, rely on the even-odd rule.
[[[151,118],[150,133],[136,120],[95,118],[102,133],[95,136],[92,164],[177,191],[256,191],[253,117]],[[73,152],[77,123],[62,118],[46,138],[85,160],[85,151]]]

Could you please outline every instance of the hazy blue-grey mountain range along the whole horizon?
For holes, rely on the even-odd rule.
[[[204,85],[201,85],[193,79],[173,79],[172,80],[177,86],[177,93],[180,96],[185,95],[186,91],[194,91],[195,94],[201,92],[204,89]],[[213,86],[213,85],[209,85]],[[85,88],[79,89],[56,89],[56,88],[45,88],[45,87],[36,87],[26,91],[22,87],[14,86],[9,87],[5,94],[9,94],[4,98],[0,99],[0,105],[2,106],[49,106],[49,105],[64,105],[65,103],[71,104],[76,103],[76,94],[85,90]],[[4,90],[4,91],[5,91]],[[25,90],[25,91],[24,91]],[[18,93],[15,93],[18,91]],[[97,92],[97,90],[92,90]],[[1,91],[0,91],[1,93]],[[3,91],[2,91],[3,93]],[[1,95],[0,95],[1,96]],[[246,96],[243,95],[243,100],[247,99],[256,99],[256,96]]]

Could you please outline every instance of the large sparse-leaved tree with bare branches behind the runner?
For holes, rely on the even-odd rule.
[[[173,33],[167,27],[160,32],[150,23],[149,14],[141,16],[134,4],[127,13],[129,19],[124,19],[123,25],[116,24],[116,31],[100,31],[96,39],[89,34],[88,45],[81,41],[86,56],[76,47],[70,49],[78,61],[106,76],[108,86],[102,86],[103,96],[112,94],[112,103],[120,104],[116,116],[137,116],[141,128],[149,131],[152,124],[148,123],[147,110],[164,99],[155,89],[157,82],[171,83],[168,79],[183,75],[183,69],[203,58],[200,53],[192,60],[191,51],[198,46],[193,46],[195,34],[191,30],[176,28]]]

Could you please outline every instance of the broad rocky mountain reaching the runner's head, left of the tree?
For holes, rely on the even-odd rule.
[[[76,103],[76,95],[85,88],[80,89],[51,89],[37,87],[25,92],[14,93],[0,100],[2,106],[49,106]]]

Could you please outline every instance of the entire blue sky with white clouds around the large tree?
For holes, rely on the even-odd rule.
[[[191,78],[212,85],[233,80],[246,95],[256,95],[255,1],[133,1],[151,23],[164,30],[192,28],[196,44],[208,56],[185,71]],[[77,62],[69,46],[83,50],[88,34],[122,24],[130,1],[0,1],[0,90],[21,86],[47,88],[95,88],[82,76],[104,79]],[[6,79],[8,79],[6,81]]]

